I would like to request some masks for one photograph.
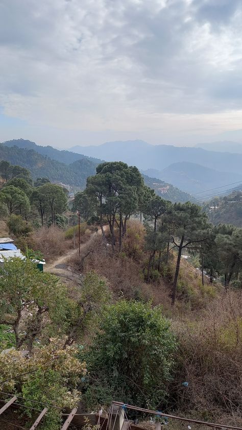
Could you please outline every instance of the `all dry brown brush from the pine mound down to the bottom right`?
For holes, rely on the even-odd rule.
[[[222,286],[210,284],[208,278],[202,285],[201,273],[182,260],[177,302],[171,307],[167,267],[161,265],[159,277],[147,284],[146,263],[143,228],[135,222],[129,224],[120,254],[113,256],[111,247],[95,236],[83,248],[81,259],[76,255],[70,260],[76,270],[95,269],[105,276],[116,298],[152,298],[154,304],[162,304],[179,345],[167,410],[204,421],[242,425],[242,293],[230,291],[224,296]],[[175,255],[170,260],[171,273],[174,267]],[[183,381],[188,387],[182,386]],[[167,428],[181,430],[187,425],[170,420]]]

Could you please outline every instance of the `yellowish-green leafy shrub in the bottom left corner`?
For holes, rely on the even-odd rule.
[[[0,374],[3,379],[38,369],[1,385],[0,392],[3,390],[14,393],[16,390],[24,397],[23,404],[30,408],[33,408],[31,400],[51,403],[62,409],[74,408],[81,398],[78,383],[85,374],[85,363],[77,359],[77,353],[75,346],[64,348],[64,340],[50,339],[47,345],[36,347],[28,358],[14,350],[0,354]],[[32,423],[39,415],[26,409],[25,413],[31,417]],[[49,408],[40,428],[59,430],[60,422],[61,411]]]

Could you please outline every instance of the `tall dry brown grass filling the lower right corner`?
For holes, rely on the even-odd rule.
[[[174,398],[182,410],[242,419],[242,294],[214,300],[200,321],[174,321],[179,351]],[[188,381],[187,388],[182,382]],[[241,421],[242,422],[242,421]]]

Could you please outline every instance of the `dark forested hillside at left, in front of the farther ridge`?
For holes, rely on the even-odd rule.
[[[29,169],[34,178],[46,176],[53,182],[63,182],[81,188],[85,188],[86,179],[94,174],[96,166],[94,162],[86,158],[66,165],[40,155],[34,150],[16,146],[7,147],[3,144],[0,145],[0,159]]]

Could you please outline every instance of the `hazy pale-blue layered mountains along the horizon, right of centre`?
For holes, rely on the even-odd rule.
[[[201,145],[207,149],[200,148]],[[211,151],[212,148],[220,149],[220,145],[222,152]],[[122,160],[130,165],[135,164],[144,174],[172,183],[191,194],[242,182],[242,151],[223,152],[228,147],[238,151],[240,144],[224,141],[198,146],[155,146],[143,140],[128,140],[106,142],[100,146],[76,146],[71,150],[107,161]]]

